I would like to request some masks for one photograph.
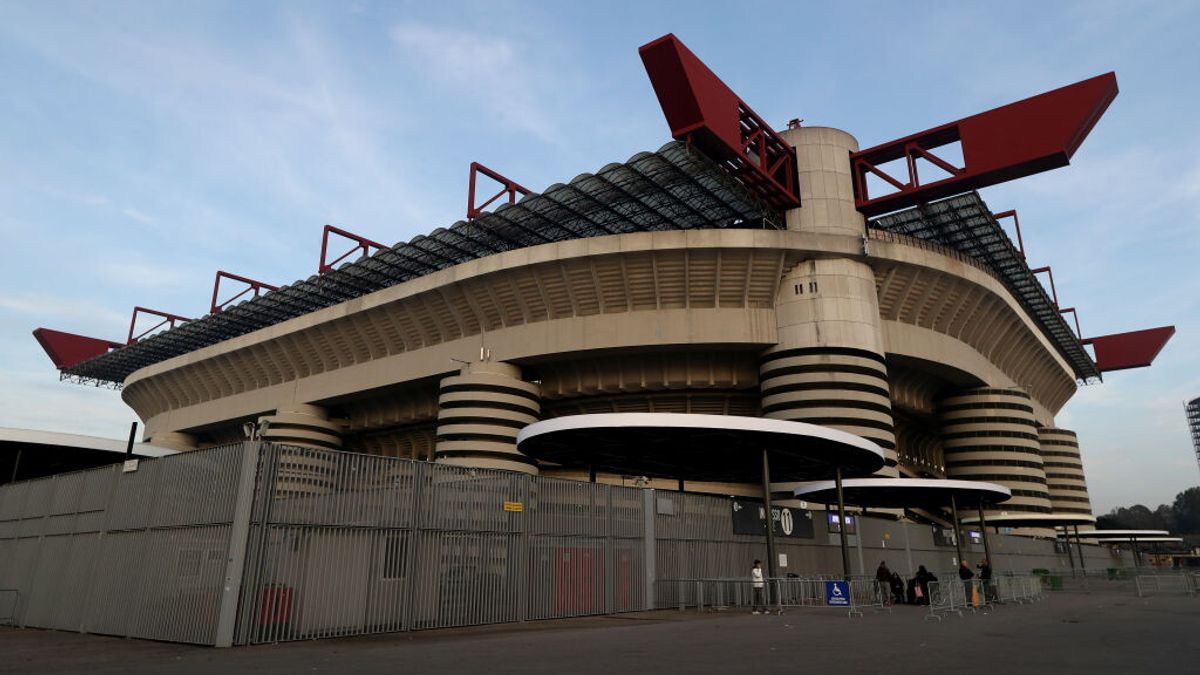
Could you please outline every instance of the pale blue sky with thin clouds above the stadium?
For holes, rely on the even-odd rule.
[[[1175,324],[1151,369],[1058,424],[1097,513],[1200,483],[1194,2],[0,1],[0,425],[121,437],[30,330],[121,339],[199,316],[212,274],[316,270],[334,223],[395,243],[462,217],[478,160],[534,190],[656,149],[637,47],[674,32],[767,120],[863,147],[1110,70],[1073,166],[984,191],[1020,211],[1084,333]]]

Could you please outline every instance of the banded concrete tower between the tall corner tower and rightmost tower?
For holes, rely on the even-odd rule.
[[[1030,395],[1018,388],[978,388],[942,399],[946,476],[998,483],[1013,498],[992,512],[1050,513],[1046,473]]]

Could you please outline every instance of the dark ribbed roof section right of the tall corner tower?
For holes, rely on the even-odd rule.
[[[870,226],[948,246],[988,265],[1070,364],[1075,377],[1085,382],[1100,380],[1096,362],[1079,341],[1081,336],[1067,324],[978,192],[880,216]]]

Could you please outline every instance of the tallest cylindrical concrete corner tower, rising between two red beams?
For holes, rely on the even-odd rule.
[[[804,205],[787,211],[788,229],[858,239],[852,136],[836,129],[787,131],[796,145]],[[895,432],[870,265],[850,258],[802,261],[784,275],[775,304],[779,344],[760,364],[763,416],[857,434],[883,448],[878,476],[895,477]]]

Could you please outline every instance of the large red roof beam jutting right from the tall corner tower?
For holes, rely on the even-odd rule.
[[[1116,95],[1117,78],[1110,72],[853,153],[856,205],[872,216],[1064,167]],[[934,153],[955,142],[962,145],[961,167]],[[922,184],[920,159],[950,175]],[[906,179],[880,168],[894,160],[905,160]],[[866,174],[895,191],[872,197]]]

